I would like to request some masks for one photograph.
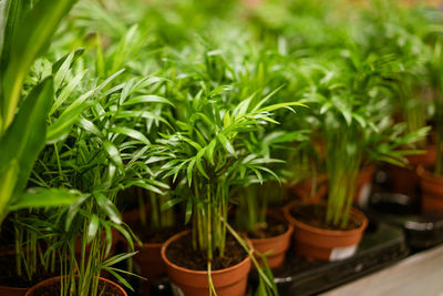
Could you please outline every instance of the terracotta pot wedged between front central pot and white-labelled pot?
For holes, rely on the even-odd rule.
[[[254,249],[257,249],[259,253],[272,251],[272,253],[267,256],[268,266],[270,268],[277,268],[285,262],[286,252],[289,248],[292,233],[293,226],[288,224],[288,229],[281,235],[267,238],[249,238],[249,241],[253,243]]]

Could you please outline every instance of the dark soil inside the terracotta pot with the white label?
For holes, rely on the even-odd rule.
[[[337,226],[326,223],[327,206],[323,204],[303,204],[299,206],[293,206],[290,208],[290,214],[298,221],[308,224],[310,226],[319,227],[322,229],[338,229]],[[350,231],[360,227],[361,221],[354,216],[349,216],[349,223],[346,228],[339,228],[340,231]]]

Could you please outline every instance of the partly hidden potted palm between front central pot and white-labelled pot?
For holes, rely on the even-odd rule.
[[[246,233],[255,251],[266,255],[270,268],[277,268],[285,261],[293,226],[282,215],[282,206],[287,202],[287,187],[280,176],[288,174],[288,169],[284,166],[286,162],[272,159],[271,155],[281,157],[285,152],[291,153],[291,149],[281,147],[298,146],[300,143],[297,142],[302,144],[307,131],[270,131],[271,127],[261,129],[251,137],[248,146],[254,153],[243,162],[243,165],[253,172],[260,170],[268,174],[239,178],[238,191],[234,195],[237,196],[237,229]],[[280,150],[277,150],[277,146]],[[276,170],[278,173],[274,173]],[[293,178],[292,172],[289,173],[289,177]]]

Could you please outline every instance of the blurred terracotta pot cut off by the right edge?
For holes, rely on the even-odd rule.
[[[419,165],[416,173],[422,187],[422,212],[443,212],[443,176],[434,175]]]

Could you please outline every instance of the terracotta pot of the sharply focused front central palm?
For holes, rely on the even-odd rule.
[[[205,271],[192,271],[175,265],[166,257],[166,248],[171,243],[188,234],[189,231],[178,233],[167,239],[162,247],[162,258],[166,263],[166,271],[176,287],[185,296],[209,295],[208,273]],[[250,242],[248,242],[250,245]],[[246,293],[250,258],[246,257],[239,264],[229,268],[213,271],[212,279],[218,296],[244,296]]]

